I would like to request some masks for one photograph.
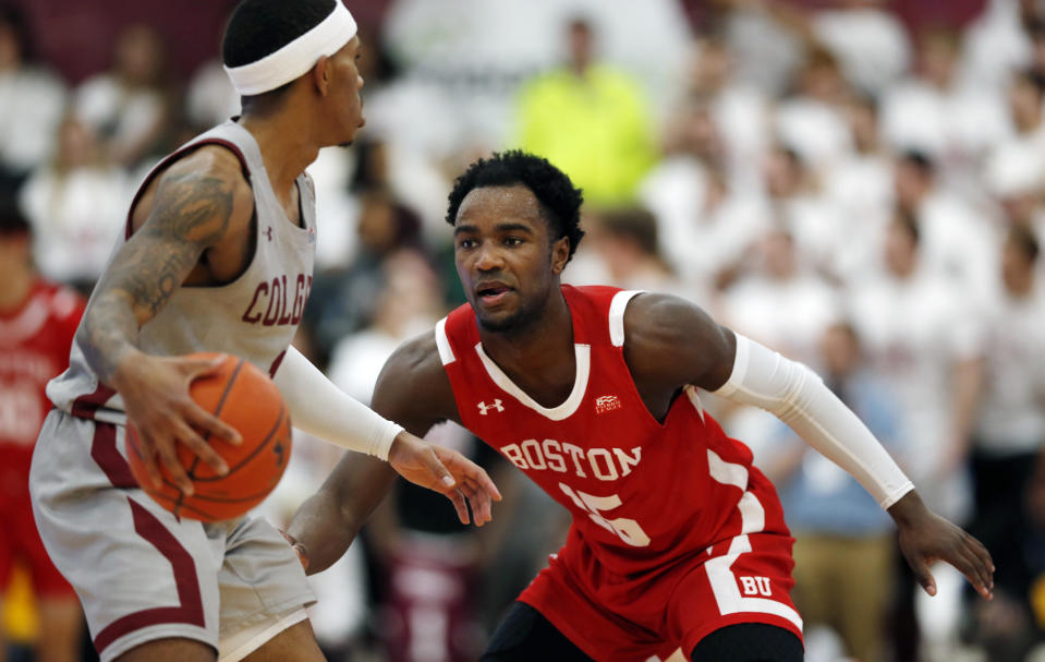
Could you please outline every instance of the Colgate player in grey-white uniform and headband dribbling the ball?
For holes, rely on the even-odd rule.
[[[227,471],[239,434],[193,402],[190,382],[238,354],[275,376],[294,424],[389,461],[476,523],[499,498],[485,472],[341,394],[290,347],[312,285],[316,222],[304,173],[363,124],[355,23],[340,0],[245,0],[223,58],[243,116],[146,178],[73,344],[48,387],[31,476],[48,553],[76,589],[101,660],[318,661],[294,551],[264,520],[179,520],[132,478],[124,424],[149,473],[192,484],[175,444]],[[351,532],[354,534],[354,532]]]

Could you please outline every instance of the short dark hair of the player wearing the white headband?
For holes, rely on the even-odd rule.
[[[243,0],[229,17],[221,41],[226,67],[242,67],[271,55],[305,34],[330,15],[338,0]],[[293,82],[276,89],[244,97],[278,99]]]

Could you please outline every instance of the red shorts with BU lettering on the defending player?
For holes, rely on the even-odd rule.
[[[741,519],[733,530],[750,530]],[[688,660],[705,636],[739,623],[776,625],[801,639],[802,618],[790,598],[793,539],[781,529],[741,533],[627,576],[607,570],[571,529],[519,599],[606,662],[667,660],[679,648]]]

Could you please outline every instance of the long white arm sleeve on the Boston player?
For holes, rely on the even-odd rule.
[[[775,413],[860,481],[883,508],[914,489],[867,426],[802,363],[737,334],[733,371],[714,393]]]

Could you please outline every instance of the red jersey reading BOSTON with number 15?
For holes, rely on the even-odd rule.
[[[575,533],[615,573],[648,570],[742,533],[786,533],[777,499],[748,491],[757,472],[751,450],[703,411],[695,388],[677,395],[663,424],[646,409],[623,356],[624,309],[637,292],[563,286],[562,293],[576,377],[550,409],[487,357],[471,306],[437,325],[464,425],[566,506]],[[739,527],[727,523],[737,508]]]

